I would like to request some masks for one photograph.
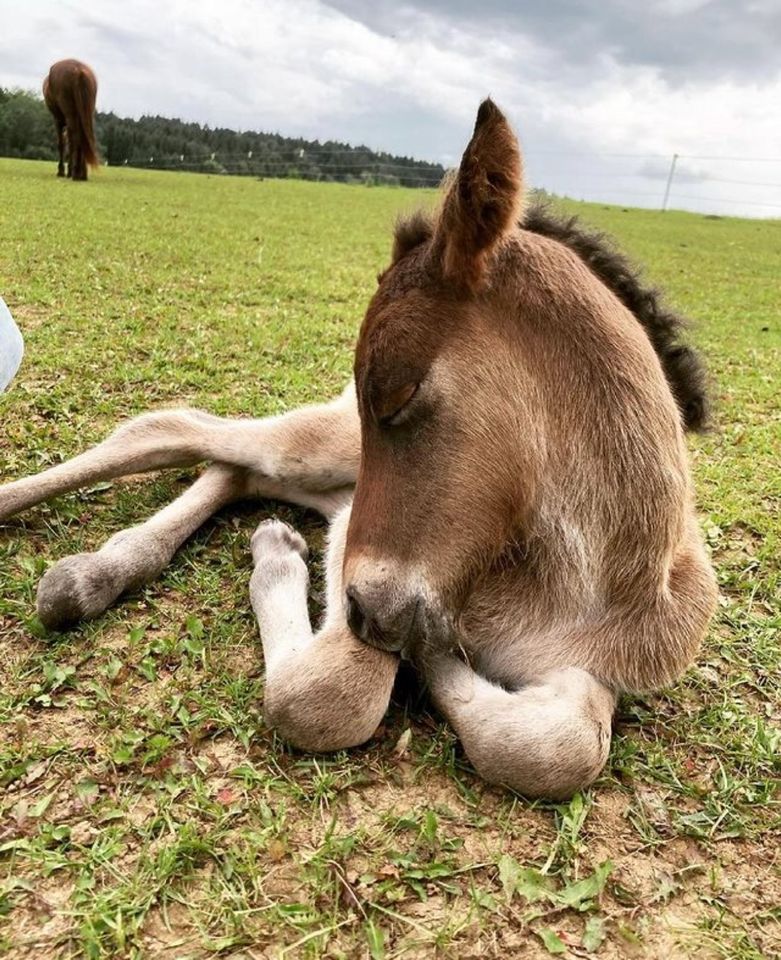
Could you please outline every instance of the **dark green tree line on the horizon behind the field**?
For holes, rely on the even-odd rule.
[[[440,164],[334,140],[237,132],[168,117],[133,120],[99,112],[95,133],[101,160],[110,166],[405,187],[437,186],[445,173]],[[0,87],[0,156],[57,159],[54,123],[41,97]]]

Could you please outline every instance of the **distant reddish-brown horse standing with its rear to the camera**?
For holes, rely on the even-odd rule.
[[[99,163],[94,130],[97,94],[95,74],[79,60],[58,60],[43,81],[43,99],[57,125],[58,177],[65,176],[66,136],[69,177],[86,180],[87,167]]]

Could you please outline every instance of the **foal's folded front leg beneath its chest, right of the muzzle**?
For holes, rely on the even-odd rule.
[[[585,670],[553,670],[508,691],[448,654],[428,665],[427,679],[489,783],[558,800],[587,786],[605,765],[615,695]]]

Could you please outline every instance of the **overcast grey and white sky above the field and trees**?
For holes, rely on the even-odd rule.
[[[781,216],[781,0],[0,0],[0,25],[0,85],[74,56],[124,116],[449,165],[490,94],[535,185],[654,206],[675,152],[671,206]]]

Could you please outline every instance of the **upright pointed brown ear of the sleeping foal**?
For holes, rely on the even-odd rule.
[[[486,261],[518,222],[522,201],[518,140],[493,100],[483,100],[436,227],[435,249],[448,280],[473,293],[480,289]]]

